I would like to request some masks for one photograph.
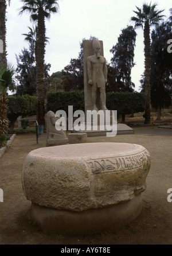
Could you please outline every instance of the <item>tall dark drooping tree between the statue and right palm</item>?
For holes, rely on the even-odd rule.
[[[110,52],[114,55],[111,58],[112,67],[115,69],[115,79],[120,91],[133,91],[135,87],[131,82],[131,68],[134,67],[134,46],[136,32],[132,26],[122,30],[118,42]]]

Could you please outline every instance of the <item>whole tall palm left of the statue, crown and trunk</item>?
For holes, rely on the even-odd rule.
[[[21,7],[20,14],[24,11],[30,13],[30,19],[37,22],[37,41],[36,41],[36,84],[38,97],[38,115],[39,125],[45,125],[45,107],[44,107],[44,56],[46,42],[45,18],[50,19],[50,14],[57,13],[58,0],[22,0],[24,5]]]

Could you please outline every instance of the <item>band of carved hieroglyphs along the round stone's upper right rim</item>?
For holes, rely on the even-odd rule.
[[[150,162],[150,154],[147,150],[132,156],[112,157],[107,159],[93,159],[88,161],[92,173],[120,172],[122,170],[139,168]]]

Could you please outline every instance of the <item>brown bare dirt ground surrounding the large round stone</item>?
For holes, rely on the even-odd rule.
[[[134,119],[132,120],[134,122]],[[22,190],[21,171],[26,155],[44,147],[46,134],[36,142],[35,133],[17,134],[0,158],[1,245],[167,245],[172,244],[172,129],[134,126],[134,134],[115,137],[88,137],[88,142],[125,142],[144,146],[151,154],[147,189],[142,193],[143,210],[133,222],[118,230],[85,236],[44,234],[31,218],[31,202]],[[172,195],[171,195],[172,199]]]

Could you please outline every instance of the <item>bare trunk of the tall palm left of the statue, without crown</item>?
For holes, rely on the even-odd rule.
[[[45,18],[44,10],[38,10],[38,41],[36,46],[36,82],[38,97],[38,125],[45,125],[44,106],[44,56],[45,56]]]

